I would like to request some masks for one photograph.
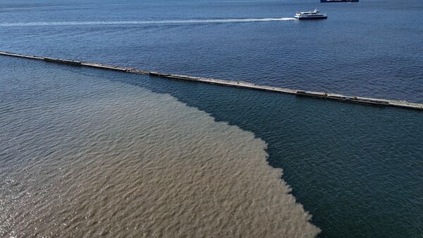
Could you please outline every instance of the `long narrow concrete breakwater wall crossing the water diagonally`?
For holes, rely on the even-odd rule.
[[[11,52],[0,52],[0,55],[13,56],[13,57],[19,57],[19,58],[25,58],[25,59],[36,59],[36,60],[42,60],[42,61],[52,62],[56,64],[67,64],[67,65],[73,65],[73,66],[91,67],[96,69],[109,69],[113,71],[123,71],[127,73],[138,73],[138,74],[145,74],[149,76],[171,78],[171,79],[177,79],[177,80],[183,80],[183,81],[194,81],[199,83],[209,83],[214,85],[223,85],[223,86],[236,87],[236,88],[263,90],[263,91],[269,91],[274,93],[287,93],[287,94],[304,96],[304,97],[317,97],[322,99],[337,100],[342,102],[354,102],[354,103],[367,104],[367,105],[403,107],[407,109],[416,109],[416,110],[423,111],[423,104],[406,102],[403,100],[385,100],[385,99],[377,99],[372,97],[351,97],[351,96],[345,96],[345,95],[340,95],[336,93],[321,93],[321,92],[305,91],[305,90],[292,90],[288,88],[277,88],[277,87],[271,87],[266,85],[255,85],[253,83],[247,83],[243,81],[226,81],[226,80],[221,80],[216,78],[202,78],[202,77],[184,76],[184,75],[171,74],[171,73],[159,73],[155,71],[145,71],[145,70],[140,70],[135,68],[126,68],[126,67],[112,66],[107,64],[74,61],[74,60],[68,60],[68,59],[54,59],[54,58],[42,57],[42,56],[15,54]]]

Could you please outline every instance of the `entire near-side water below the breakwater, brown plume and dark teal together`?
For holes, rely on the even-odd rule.
[[[2,235],[422,235],[420,112],[0,63]]]

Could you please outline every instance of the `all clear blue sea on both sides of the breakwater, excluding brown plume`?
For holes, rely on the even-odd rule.
[[[1,50],[423,102],[419,0],[0,4]],[[224,22],[312,8],[328,20]],[[15,60],[2,58],[0,66]],[[67,69],[169,93],[252,131],[268,143],[269,164],[283,169],[320,237],[423,235],[421,112]]]

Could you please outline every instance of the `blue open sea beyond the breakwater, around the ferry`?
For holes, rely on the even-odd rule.
[[[1,50],[423,102],[421,0],[0,4]]]

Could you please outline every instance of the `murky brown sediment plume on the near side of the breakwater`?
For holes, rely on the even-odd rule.
[[[0,237],[319,232],[254,134],[170,95],[43,67],[1,92]]]

